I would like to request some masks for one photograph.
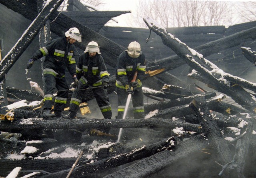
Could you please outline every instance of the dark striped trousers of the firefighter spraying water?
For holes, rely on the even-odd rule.
[[[122,119],[124,115],[125,104],[127,100],[126,90],[123,88],[116,87],[116,92],[118,96],[118,112],[117,119]],[[142,87],[136,88],[134,90],[134,95],[132,95],[132,106],[134,112],[134,119],[144,118],[144,101],[143,101]]]

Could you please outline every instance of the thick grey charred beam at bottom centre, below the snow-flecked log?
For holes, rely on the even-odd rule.
[[[174,164],[181,158],[186,158],[194,152],[199,152],[207,146],[208,142],[203,136],[195,136],[186,141],[180,142],[174,151],[165,150],[156,153],[148,158],[140,160],[120,171],[114,172],[104,178],[132,178],[132,177],[150,177],[150,175],[159,172],[160,170]]]

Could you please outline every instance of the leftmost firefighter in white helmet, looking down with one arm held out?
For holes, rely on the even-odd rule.
[[[65,79],[65,70],[68,68],[74,83],[78,85],[76,77],[76,61],[74,58],[74,49],[72,45],[74,42],[81,42],[82,35],[77,28],[70,28],[65,32],[63,38],[56,38],[49,42],[45,47],[40,48],[28,60],[27,68],[31,68],[34,61],[45,56],[43,62],[43,75],[44,75],[44,105],[43,116],[57,116],[62,117],[64,114],[65,104],[68,98],[69,86]],[[54,114],[51,113],[52,109],[52,96],[54,88],[58,92],[54,101]]]

